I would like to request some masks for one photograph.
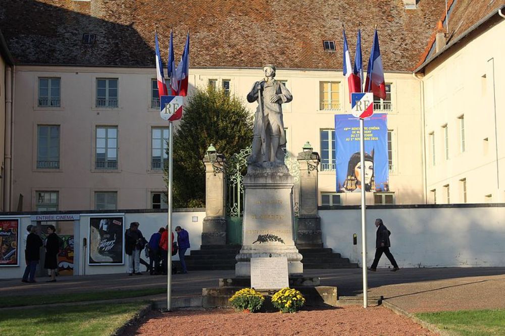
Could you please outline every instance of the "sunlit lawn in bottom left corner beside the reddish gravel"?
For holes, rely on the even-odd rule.
[[[110,335],[145,307],[131,302],[3,310],[0,335]]]

